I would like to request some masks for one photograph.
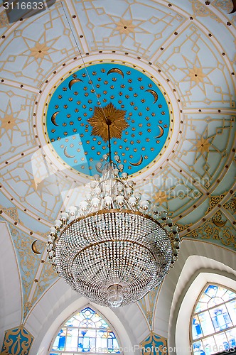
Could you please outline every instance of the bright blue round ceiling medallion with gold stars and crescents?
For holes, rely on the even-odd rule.
[[[116,122],[120,119],[122,124],[125,118],[122,136],[119,126],[116,133],[111,126],[112,149],[114,154],[122,152],[124,170],[132,175],[154,162],[169,139],[168,103],[151,76],[117,63],[81,67],[50,94],[46,125],[60,158],[82,174],[96,173],[95,166],[107,151],[107,137],[92,125],[100,114],[95,111],[97,101],[100,111],[112,109]]]

